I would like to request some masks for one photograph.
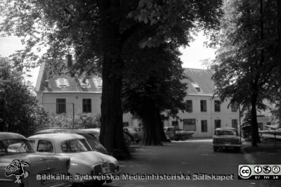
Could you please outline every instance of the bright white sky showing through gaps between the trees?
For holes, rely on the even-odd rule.
[[[200,32],[197,36],[194,36],[194,41],[190,43],[190,46],[181,48],[180,51],[183,53],[181,60],[183,61],[183,67],[190,67],[196,69],[207,69],[200,60],[215,58],[215,50],[209,49],[204,46],[206,38],[203,33]],[[18,37],[0,37],[0,56],[8,57],[15,51],[23,49],[20,38]],[[30,75],[32,77],[25,77],[26,80],[32,82],[35,86],[38,77],[39,67],[31,70]]]

